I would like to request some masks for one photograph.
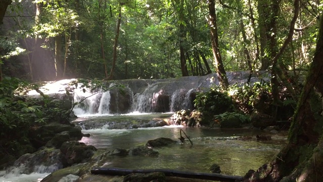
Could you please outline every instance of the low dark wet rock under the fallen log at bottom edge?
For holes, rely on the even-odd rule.
[[[164,182],[166,181],[166,176],[163,172],[152,172],[148,174],[142,173],[131,173],[124,177],[123,182],[150,182],[150,181],[158,181]]]

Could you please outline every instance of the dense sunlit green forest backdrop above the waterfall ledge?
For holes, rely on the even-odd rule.
[[[296,2],[2,1],[2,72],[30,81],[271,68],[297,76],[311,62],[322,5]]]

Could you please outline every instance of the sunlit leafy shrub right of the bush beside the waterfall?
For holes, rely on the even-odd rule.
[[[255,82],[252,85],[244,84],[242,86],[230,85],[228,92],[237,108],[247,114],[250,114],[254,109],[268,109],[272,103],[269,82]]]

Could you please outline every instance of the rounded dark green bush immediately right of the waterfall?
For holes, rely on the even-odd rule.
[[[214,115],[234,109],[231,97],[227,92],[221,92],[219,87],[211,87],[207,92],[198,93],[194,106],[203,113],[204,122],[209,122]]]

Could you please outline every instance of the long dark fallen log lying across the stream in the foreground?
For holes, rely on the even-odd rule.
[[[122,168],[99,167],[91,170],[92,174],[121,175],[121,176],[125,176],[131,173],[147,174],[151,172],[163,172],[165,173],[166,176],[185,177],[185,178],[194,178],[194,179],[207,179],[207,180],[218,180],[218,181],[242,181],[243,180],[242,176],[236,176],[236,175],[179,171],[179,170],[171,170],[171,169],[122,169]]]

